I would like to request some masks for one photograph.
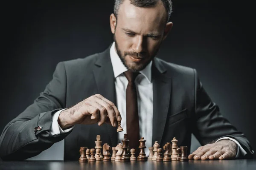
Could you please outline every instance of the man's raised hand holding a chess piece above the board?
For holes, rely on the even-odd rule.
[[[116,127],[117,121],[121,120],[121,115],[113,102],[100,94],[95,94],[72,108],[62,111],[58,117],[58,124],[62,129],[76,124],[91,125],[95,123],[98,123],[99,126],[108,123]]]

